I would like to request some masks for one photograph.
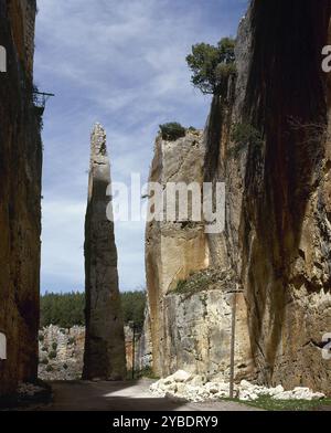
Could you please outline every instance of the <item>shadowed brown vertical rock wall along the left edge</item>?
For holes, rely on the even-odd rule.
[[[34,0],[0,2],[0,395],[36,379],[40,292],[40,117],[33,105]]]

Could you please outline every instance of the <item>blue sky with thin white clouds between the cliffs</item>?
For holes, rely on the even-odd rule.
[[[40,0],[35,83],[44,116],[42,292],[84,289],[89,135],[108,136],[113,181],[147,180],[158,125],[202,128],[210,97],[190,84],[196,42],[235,35],[246,0]],[[116,226],[121,291],[145,286],[145,223]]]

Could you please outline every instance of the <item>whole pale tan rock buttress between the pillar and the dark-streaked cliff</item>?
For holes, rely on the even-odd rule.
[[[220,108],[220,107],[218,107]],[[212,113],[209,125],[216,118]],[[186,154],[194,136],[175,142],[157,139],[151,181],[202,183],[205,146],[215,135],[212,128],[200,135],[200,146]],[[199,151],[197,151],[199,150]],[[183,155],[183,157],[182,157]],[[218,157],[217,157],[218,158]],[[171,173],[171,175],[170,175]],[[217,171],[217,180],[222,173]],[[215,180],[215,179],[211,179]],[[237,224],[239,218],[237,216]],[[178,222],[152,222],[147,226],[147,283],[151,310],[153,369],[168,376],[179,368],[206,377],[228,378],[233,294],[236,291],[231,267],[223,254],[227,240],[205,234],[203,222],[186,229]],[[211,262],[211,263],[210,263]],[[184,293],[178,283],[184,283]],[[182,284],[183,285],[183,284]],[[243,295],[237,296],[236,379],[254,376]]]

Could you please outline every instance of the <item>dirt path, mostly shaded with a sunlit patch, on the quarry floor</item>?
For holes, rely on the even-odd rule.
[[[53,382],[54,399],[38,411],[255,411],[234,402],[188,403],[160,399],[148,391],[152,381]]]

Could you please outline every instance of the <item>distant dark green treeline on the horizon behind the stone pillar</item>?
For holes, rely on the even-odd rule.
[[[134,321],[137,329],[142,329],[146,306],[145,292],[125,292],[120,294],[125,324]],[[85,294],[84,293],[45,293],[41,296],[40,326],[57,325],[71,328],[85,325]]]

